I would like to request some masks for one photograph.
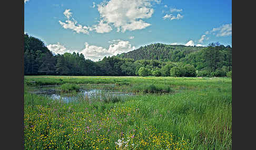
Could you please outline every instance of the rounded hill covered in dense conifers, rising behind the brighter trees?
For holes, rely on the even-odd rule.
[[[119,58],[132,58],[135,61],[141,59],[154,59],[179,62],[191,52],[199,51],[204,47],[193,47],[184,45],[151,44],[140,47],[127,53],[117,55]]]

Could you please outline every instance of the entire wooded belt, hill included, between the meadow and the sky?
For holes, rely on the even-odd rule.
[[[48,50],[38,38],[24,34],[25,75],[63,76],[232,76],[232,48],[219,42],[207,47],[151,44],[94,62],[82,53]]]

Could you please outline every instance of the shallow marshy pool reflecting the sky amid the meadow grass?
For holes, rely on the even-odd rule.
[[[76,93],[61,93],[57,89],[59,85],[47,85],[35,89],[32,93],[44,95],[50,97],[53,100],[62,100],[63,102],[72,102],[79,99],[98,99],[102,100],[103,97],[124,97],[134,95],[133,93],[117,92],[113,90],[103,89],[80,89],[80,92]]]

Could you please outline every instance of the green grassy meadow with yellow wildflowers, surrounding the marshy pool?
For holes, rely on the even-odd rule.
[[[130,92],[129,97],[32,94],[44,85]],[[24,76],[25,149],[232,149],[232,79]]]

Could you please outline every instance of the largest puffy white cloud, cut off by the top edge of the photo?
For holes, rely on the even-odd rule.
[[[97,5],[101,19],[117,28],[117,32],[144,29],[151,24],[144,22],[154,13],[153,0],[111,0]],[[159,4],[161,1],[153,1]]]

